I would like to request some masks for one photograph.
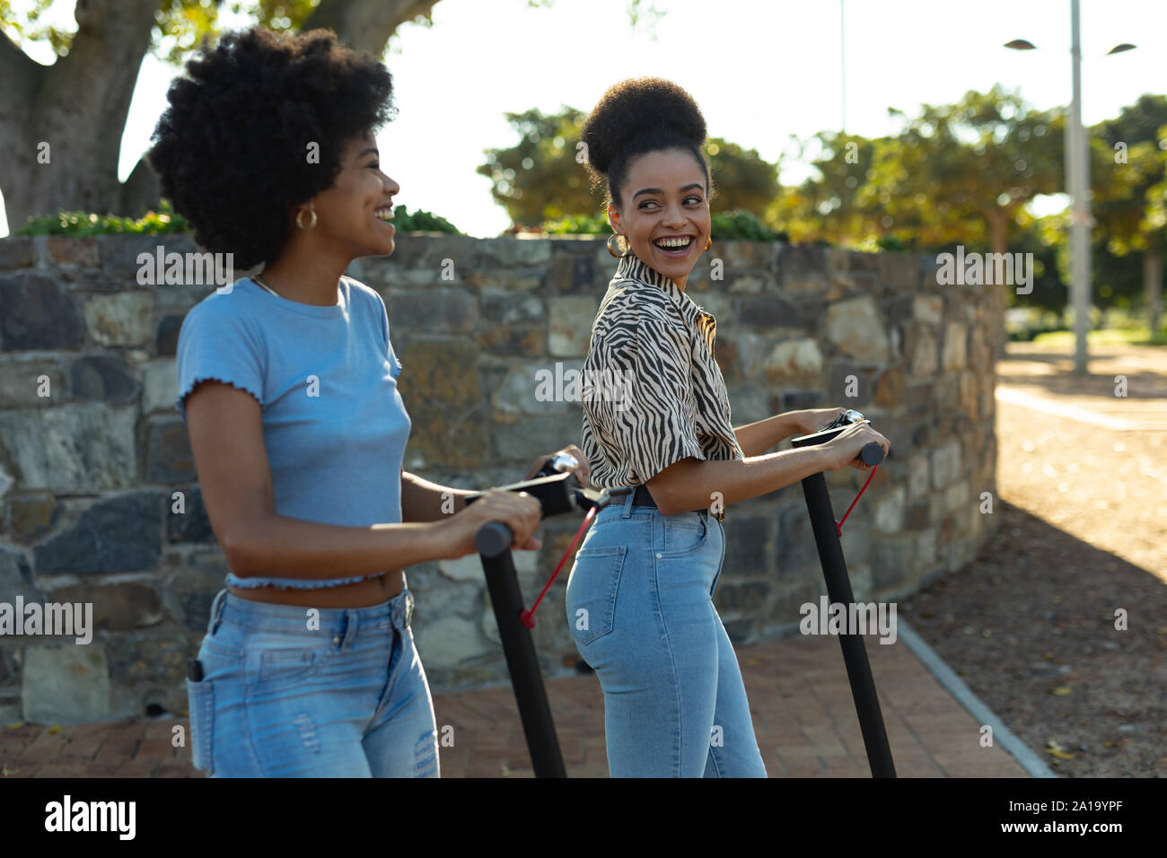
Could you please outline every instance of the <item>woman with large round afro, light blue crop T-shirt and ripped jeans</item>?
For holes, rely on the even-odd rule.
[[[194,763],[221,777],[439,776],[403,570],[475,553],[488,521],[537,549],[539,504],[490,491],[467,507],[469,490],[401,467],[411,420],[385,305],[344,275],[393,252],[399,186],[373,140],[390,72],[330,30],[258,27],[204,44],[186,71],[149,163],[197,244],[263,263],[179,335],[176,409],[229,567],[187,684]],[[582,453],[566,451],[586,482]]]

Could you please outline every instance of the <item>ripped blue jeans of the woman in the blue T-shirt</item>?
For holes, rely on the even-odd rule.
[[[413,594],[303,608],[223,590],[187,679],[195,768],[212,777],[438,777]],[[319,613],[319,616],[317,616]]]

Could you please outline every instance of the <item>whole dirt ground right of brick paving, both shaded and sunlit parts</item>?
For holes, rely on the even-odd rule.
[[[1071,370],[1009,346],[999,537],[904,616],[1058,774],[1167,776],[1167,349]]]

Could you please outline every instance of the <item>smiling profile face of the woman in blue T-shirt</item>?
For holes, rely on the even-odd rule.
[[[354,259],[392,253],[393,195],[400,189],[382,172],[377,142],[366,132],[347,144],[336,182],[316,196],[316,229]],[[378,217],[385,209],[390,217]]]

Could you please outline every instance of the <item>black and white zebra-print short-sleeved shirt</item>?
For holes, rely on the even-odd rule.
[[[648,482],[687,456],[745,459],[713,358],[717,320],[631,251],[584,360],[580,448],[599,489]]]

